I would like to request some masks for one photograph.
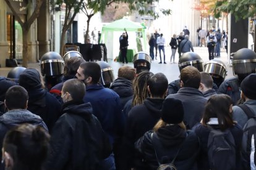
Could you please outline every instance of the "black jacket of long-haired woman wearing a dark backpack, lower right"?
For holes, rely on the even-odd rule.
[[[218,126],[211,126],[214,129],[218,129]],[[210,134],[210,128],[203,126],[202,124],[198,123],[196,124],[193,129],[195,131],[195,134],[200,139],[200,154],[198,156],[198,169],[210,169],[209,163],[208,163],[208,136]],[[229,129],[231,131],[231,134],[234,137],[234,142],[236,144],[236,163],[237,163],[237,169],[241,169],[241,145],[242,145],[242,127],[238,124],[234,125],[232,128]]]

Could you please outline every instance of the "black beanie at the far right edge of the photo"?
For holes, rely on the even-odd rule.
[[[256,73],[252,73],[241,83],[242,92],[251,100],[256,100]]]

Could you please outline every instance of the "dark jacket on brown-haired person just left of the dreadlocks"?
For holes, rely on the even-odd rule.
[[[130,81],[129,79],[115,79],[114,82],[111,84],[110,89],[112,89],[119,95],[122,108],[124,108],[124,105],[128,102],[128,100],[134,97],[132,81]]]

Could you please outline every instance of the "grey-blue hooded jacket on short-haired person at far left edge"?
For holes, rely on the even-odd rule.
[[[4,115],[0,116],[0,147],[1,148],[2,148],[2,142],[4,140],[4,136],[6,135],[6,132],[12,129],[13,127],[23,123],[29,123],[35,126],[41,126],[46,131],[48,131],[48,128],[45,122],[43,121],[43,119],[41,119],[40,116],[35,115],[28,110],[15,109],[15,110],[7,111],[6,113],[4,113]],[[0,155],[0,158],[1,157],[2,157],[2,154]]]

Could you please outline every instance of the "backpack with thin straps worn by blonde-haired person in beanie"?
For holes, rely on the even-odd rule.
[[[158,150],[156,148],[161,147],[161,143],[158,139],[156,139],[156,134],[155,133],[151,134],[151,140],[152,140],[152,144],[153,144],[153,147],[154,147],[154,150],[155,150],[156,160],[157,160],[158,165],[159,165],[156,170],[177,170],[176,166],[174,165],[174,161],[176,160],[177,155],[179,155],[179,151],[181,150],[181,147],[179,147],[179,150],[177,151],[177,153],[174,156],[171,163],[161,163],[161,162],[163,162],[163,160],[168,161],[169,156],[168,155],[162,156],[161,154],[158,153]],[[183,143],[184,142],[182,142],[182,144]],[[181,144],[181,146],[182,146],[182,144]],[[159,156],[159,155],[161,155],[161,156]],[[159,158],[161,158],[161,161],[159,160]]]

